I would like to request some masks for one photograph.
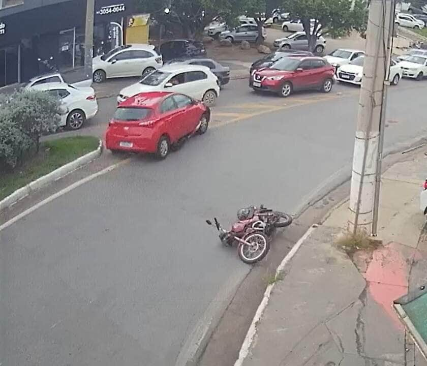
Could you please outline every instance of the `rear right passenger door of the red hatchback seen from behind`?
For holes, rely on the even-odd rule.
[[[160,118],[163,122],[162,134],[166,133],[170,137],[170,142],[174,143],[186,135],[185,115],[180,110],[173,96],[167,97],[159,107]],[[159,136],[160,137],[160,136]]]

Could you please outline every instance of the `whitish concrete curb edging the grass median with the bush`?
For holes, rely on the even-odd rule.
[[[7,196],[2,201],[0,201],[0,212],[3,211],[5,208],[8,208],[14,205],[16,202],[20,201],[22,198],[29,196],[34,191],[39,190],[40,188],[50,184],[51,182],[59,178],[62,178],[63,176],[73,172],[74,170],[80,168],[81,166],[98,158],[102,154],[102,148],[103,148],[102,141],[99,140],[99,145],[96,150],[91,151],[90,153],[87,153],[86,155],[83,155],[82,157],[77,158],[76,160],[66,165],[63,165],[58,169],[55,169],[52,172],[41,176],[40,178],[27,184],[25,187],[19,188],[18,190],[13,192],[11,195]]]

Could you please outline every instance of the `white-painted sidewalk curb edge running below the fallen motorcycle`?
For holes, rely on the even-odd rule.
[[[304,235],[302,235],[299,240],[295,243],[295,245],[292,247],[292,249],[289,251],[289,253],[286,255],[285,258],[283,258],[282,263],[279,264],[279,267],[276,269],[276,276],[280,274],[280,272],[283,271],[286,264],[289,263],[289,261],[292,259],[292,257],[296,254],[299,247],[301,247],[302,243],[306,241],[306,239],[310,236],[310,234],[314,231],[314,229],[317,228],[317,225],[311,226]],[[268,301],[271,296],[271,290],[275,284],[268,285],[264,292],[264,297],[262,298],[261,303],[259,304],[259,307],[257,309],[257,312],[255,313],[254,319],[252,319],[251,326],[249,327],[248,333],[246,334],[245,340],[243,341],[240,352],[239,352],[239,358],[234,363],[234,366],[242,366],[243,361],[245,361],[245,358],[249,354],[249,350],[251,348],[252,342],[254,340],[255,334],[257,332],[257,323],[262,317],[262,314],[264,313],[265,308],[267,307]]]

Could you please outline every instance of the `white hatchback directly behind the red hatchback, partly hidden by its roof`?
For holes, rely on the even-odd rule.
[[[207,106],[215,104],[220,95],[218,78],[209,68],[196,65],[171,64],[143,77],[120,90],[117,103],[138,93],[170,91],[201,100]]]

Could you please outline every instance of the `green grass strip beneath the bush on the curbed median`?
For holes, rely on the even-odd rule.
[[[43,175],[98,148],[92,136],[64,137],[40,144],[39,154],[13,171],[0,172],[0,200]]]

